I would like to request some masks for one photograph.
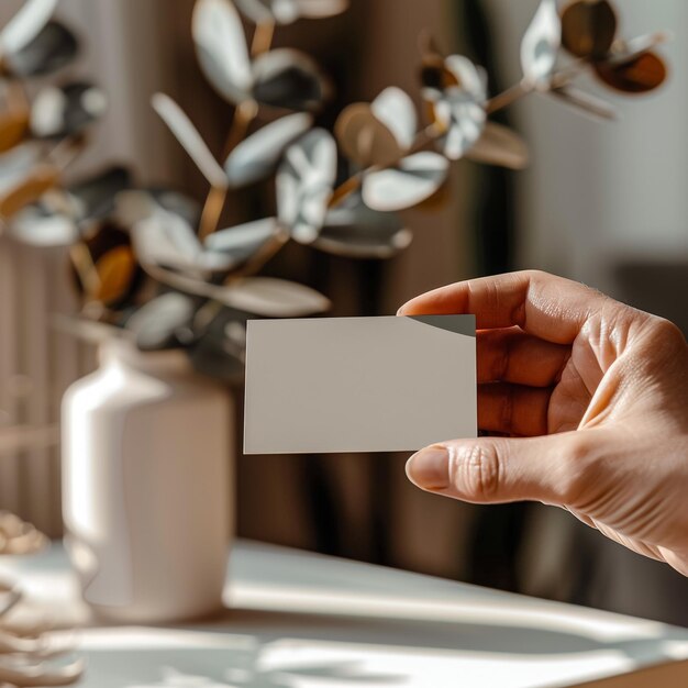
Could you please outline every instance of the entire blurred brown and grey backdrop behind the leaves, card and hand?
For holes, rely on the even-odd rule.
[[[19,4],[3,0],[0,24]],[[297,22],[280,29],[276,42],[315,55],[333,76],[337,96],[323,114],[331,124],[344,104],[370,100],[386,86],[415,97],[422,29],[446,53],[484,65],[492,93],[518,81],[519,42],[536,4],[352,0],[349,12],[319,21],[318,31]],[[203,197],[203,179],[149,107],[154,91],[170,93],[211,149],[221,151],[231,109],[198,68],[192,5],[60,2],[58,16],[85,42],[75,76],[99,82],[110,100],[75,175],[120,162],[146,182]],[[597,122],[546,98],[528,98],[502,115],[530,144],[526,171],[453,166],[447,202],[406,214],[414,240],[390,262],[353,262],[297,246],[268,271],[319,288],[333,300],[333,315],[374,315],[392,314],[406,299],[443,284],[541,268],[688,332],[688,4],[621,0],[619,7],[625,34],[667,29],[675,35],[663,48],[668,82],[648,97],[618,99],[620,121]],[[58,422],[64,390],[95,366],[91,346],[49,326],[52,313],[74,309],[65,269],[60,251],[0,237],[0,428]],[[241,404],[241,389],[234,391]],[[240,452],[238,535],[688,625],[688,604],[676,603],[686,599],[686,581],[667,566],[628,553],[564,511],[485,509],[422,493],[406,480],[406,458]],[[59,535],[58,451],[0,446],[0,508]]]

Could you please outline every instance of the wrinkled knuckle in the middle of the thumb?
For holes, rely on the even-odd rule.
[[[492,443],[455,447],[450,453],[450,476],[457,491],[470,500],[490,501],[499,495],[501,467]]]

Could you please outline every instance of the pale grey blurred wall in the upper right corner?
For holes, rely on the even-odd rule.
[[[615,291],[614,266],[628,259],[688,255],[688,3],[618,2],[620,31],[633,37],[668,29],[662,48],[668,84],[641,97],[586,88],[618,106],[618,122],[598,122],[534,96],[514,109],[533,163],[521,178],[520,263]],[[518,42],[536,0],[488,0],[501,62],[519,78]]]

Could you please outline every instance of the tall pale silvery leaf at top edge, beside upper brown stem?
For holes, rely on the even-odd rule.
[[[197,0],[192,34],[201,69],[232,103],[251,98],[253,75],[241,18],[230,0]]]

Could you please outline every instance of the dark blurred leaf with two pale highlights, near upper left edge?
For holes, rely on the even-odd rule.
[[[101,116],[107,107],[106,95],[92,84],[47,86],[31,107],[31,132],[36,138],[74,136]]]

